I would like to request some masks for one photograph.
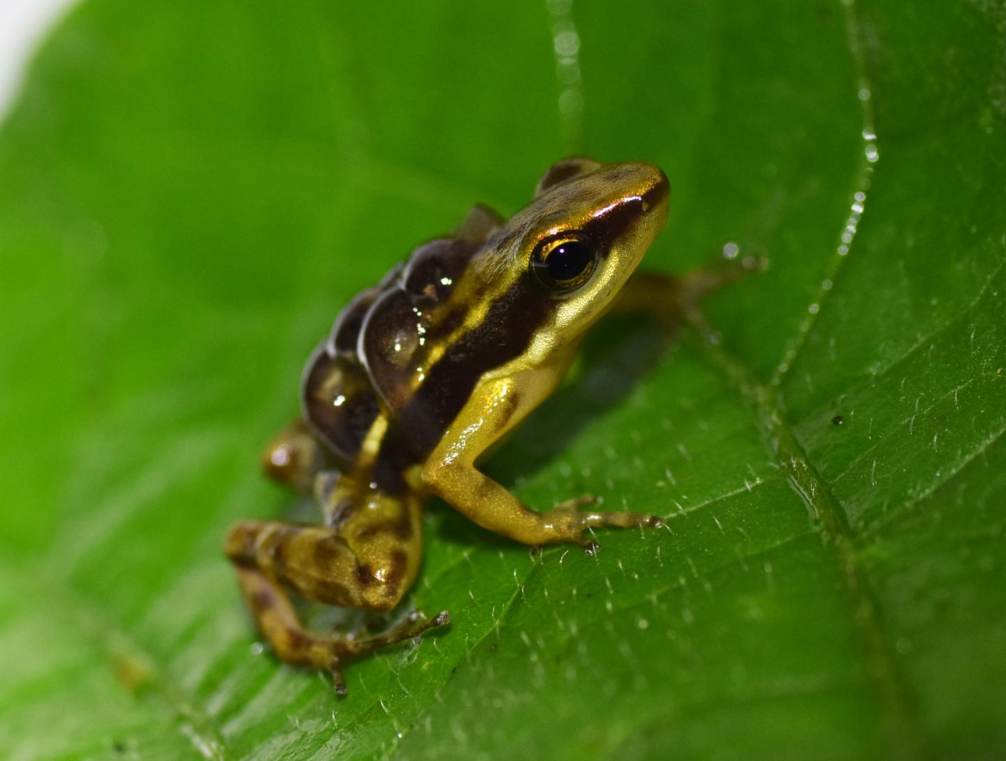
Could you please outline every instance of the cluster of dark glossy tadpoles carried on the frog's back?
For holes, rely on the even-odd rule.
[[[496,223],[477,208],[455,237],[414,250],[339,314],[302,386],[304,419],[336,457],[353,461],[377,417],[393,418],[422,385],[424,358],[463,317],[446,311],[455,284]]]

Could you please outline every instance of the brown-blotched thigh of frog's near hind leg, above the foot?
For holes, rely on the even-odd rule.
[[[402,500],[396,519],[350,516],[339,528],[242,520],[227,537],[238,568],[254,568],[309,600],[385,611],[411,585],[422,553],[418,504]]]

